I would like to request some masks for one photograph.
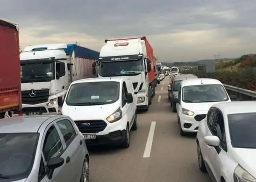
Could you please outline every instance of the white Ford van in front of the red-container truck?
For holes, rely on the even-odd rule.
[[[62,115],[71,117],[86,144],[130,146],[130,130],[137,130],[136,98],[127,77],[103,77],[73,82]]]

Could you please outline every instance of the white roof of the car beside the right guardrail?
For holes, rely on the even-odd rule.
[[[222,83],[216,79],[211,78],[195,78],[195,79],[187,79],[183,80],[181,83],[181,86],[191,86],[191,85],[211,85],[211,84],[218,84],[222,85]]]

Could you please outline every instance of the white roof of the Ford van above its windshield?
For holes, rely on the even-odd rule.
[[[86,82],[106,82],[106,81],[116,81],[116,82],[121,82],[123,80],[130,80],[128,77],[96,77],[96,78],[85,78],[81,80],[77,80],[72,82],[71,84],[76,84],[76,83],[86,83]]]

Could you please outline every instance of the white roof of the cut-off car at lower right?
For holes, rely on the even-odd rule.
[[[226,115],[236,113],[256,113],[256,101],[231,101],[218,103],[212,107],[220,109]]]

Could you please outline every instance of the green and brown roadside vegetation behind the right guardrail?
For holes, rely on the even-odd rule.
[[[256,55],[243,55],[234,60],[216,62],[215,69],[215,73],[206,73],[205,68],[190,69],[182,73],[214,78],[223,84],[256,91]]]

